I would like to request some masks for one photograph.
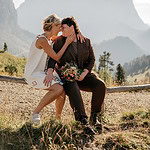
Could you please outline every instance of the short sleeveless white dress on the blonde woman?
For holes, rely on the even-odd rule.
[[[45,37],[45,36],[39,35],[37,38],[39,37]],[[43,49],[38,49],[35,46],[37,38],[31,44],[29,55],[27,58],[27,64],[25,66],[24,77],[26,79],[26,82],[32,87],[37,89],[47,89],[50,86],[49,87],[45,86],[43,84],[43,81],[46,77],[45,67],[46,67],[46,61],[48,55],[47,53],[45,53]],[[52,41],[48,41],[48,43],[52,46]],[[55,71],[53,72],[53,75],[55,77],[55,80],[52,80],[51,85],[55,83],[59,83],[62,85],[63,83],[61,82],[60,77]]]

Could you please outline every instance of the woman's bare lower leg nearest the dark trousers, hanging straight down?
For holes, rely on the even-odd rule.
[[[56,119],[61,119],[61,113],[65,104],[65,99],[66,99],[66,95],[65,95],[65,91],[63,90],[62,94],[56,99],[56,103],[55,103]]]

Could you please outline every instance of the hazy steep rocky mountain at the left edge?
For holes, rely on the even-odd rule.
[[[34,34],[18,25],[17,11],[12,0],[0,0],[0,48],[6,42],[8,52],[17,56],[26,56]]]

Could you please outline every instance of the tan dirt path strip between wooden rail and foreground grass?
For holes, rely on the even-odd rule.
[[[29,119],[31,112],[37,106],[46,91],[35,90],[28,85],[0,81],[0,113],[17,115],[22,119]],[[91,93],[82,92],[86,112],[90,115]],[[106,94],[105,114],[115,117],[122,112],[137,109],[150,109],[150,92],[126,92]],[[49,104],[41,112],[42,119],[55,115],[55,102]],[[63,119],[72,118],[68,97],[63,109]]]

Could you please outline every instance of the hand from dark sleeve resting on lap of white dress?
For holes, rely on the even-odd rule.
[[[51,86],[52,80],[55,80],[55,78],[53,76],[53,69],[49,68],[48,71],[47,71],[47,75],[46,75],[43,83],[44,83],[45,86],[48,87],[48,86]]]

